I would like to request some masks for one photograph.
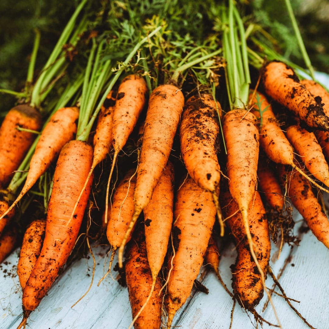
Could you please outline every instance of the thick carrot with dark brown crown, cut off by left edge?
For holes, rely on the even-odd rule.
[[[33,132],[41,128],[39,112],[29,105],[17,105],[5,116],[0,127],[0,188],[7,187],[33,140]]]

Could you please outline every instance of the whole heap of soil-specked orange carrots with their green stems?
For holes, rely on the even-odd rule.
[[[139,25],[142,15],[136,18],[147,34],[130,40],[131,46],[115,30],[128,31],[124,15],[109,14],[116,34],[111,40],[88,30],[87,16],[77,24],[86,3],[78,6],[45,65],[52,67],[50,73],[41,73],[26,105],[9,111],[0,128],[0,260],[15,243],[17,228],[8,229],[13,213],[21,200],[32,200],[26,194],[37,185],[44,200],[40,218],[46,217],[20,224],[20,326],[67,263],[79,233],[89,239],[82,223],[93,201],[103,223],[93,219],[112,248],[107,273],[116,250],[119,267],[125,267],[131,326],[160,328],[165,309],[170,328],[190,296],[216,220],[219,234],[213,238],[230,234],[237,245],[233,292],[228,292],[255,314],[264,291],[270,299],[265,278],[271,235],[276,240],[280,230],[282,241],[295,241],[291,220],[269,222],[267,205],[269,213],[284,218],[290,198],[329,248],[329,222],[314,193],[329,192],[328,92],[314,81],[299,81],[279,60],[264,62],[258,83],[249,89],[246,35],[232,0],[216,7],[221,47],[214,38],[189,41],[174,59],[173,45],[182,40],[170,40],[177,35],[159,17],[145,26]],[[79,38],[87,55],[82,71],[74,62],[67,64],[61,52],[68,40],[77,44]],[[123,62],[110,56],[119,47]],[[79,79],[42,117],[39,109],[48,93],[41,90],[51,86],[50,92],[53,75],[69,69],[77,70]],[[218,88],[218,72],[227,93]],[[12,152],[18,149],[20,155]],[[211,264],[216,270],[218,259]]]

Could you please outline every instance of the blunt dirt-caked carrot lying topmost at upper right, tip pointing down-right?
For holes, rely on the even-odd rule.
[[[275,101],[286,106],[311,128],[329,130],[329,118],[321,101],[299,82],[293,69],[280,61],[272,61],[261,70],[265,92]]]

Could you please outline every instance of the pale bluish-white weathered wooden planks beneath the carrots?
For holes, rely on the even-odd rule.
[[[297,219],[301,219],[297,217]],[[326,329],[329,326],[328,308],[328,273],[329,251],[311,232],[301,236],[298,247],[292,250],[285,245],[280,259],[277,258],[277,246],[273,245],[271,267],[275,275],[289,259],[280,284],[288,297],[300,301],[292,302],[293,306],[315,328]],[[0,328],[16,328],[22,318],[21,289],[15,275],[19,250],[16,250],[0,266]],[[28,328],[32,329],[64,329],[64,328],[128,328],[132,316],[127,289],[121,287],[113,272],[114,279],[108,276],[99,287],[97,283],[103,276],[104,260],[107,259],[106,248],[94,249],[96,269],[93,285],[88,294],[73,308],[71,306],[87,291],[91,282],[92,258],[81,259],[70,266],[53,285],[49,294],[41,301],[28,320]],[[231,289],[231,271],[234,263],[233,245],[222,254],[220,273],[226,285]],[[107,259],[108,260],[108,259]],[[174,326],[181,329],[229,328],[233,301],[224,291],[212,272],[205,272],[202,283],[209,289],[209,294],[193,291],[186,305],[176,314]],[[267,278],[268,288],[273,281]],[[278,291],[278,289],[276,289]],[[273,309],[267,306],[262,312],[266,297],[257,307],[257,311],[269,322],[277,324]],[[306,324],[291,310],[284,299],[273,294],[273,303],[283,328],[304,329]],[[255,320],[237,304],[233,314],[233,329],[254,328]],[[260,327],[260,326],[258,326]],[[263,328],[269,328],[263,324]]]

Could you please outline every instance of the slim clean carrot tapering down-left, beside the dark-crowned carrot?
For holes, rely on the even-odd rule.
[[[13,204],[2,216],[7,215],[32,188],[50,164],[58,157],[63,146],[69,140],[75,138],[78,117],[79,110],[77,107],[61,108],[51,116],[36,144],[25,184]]]

